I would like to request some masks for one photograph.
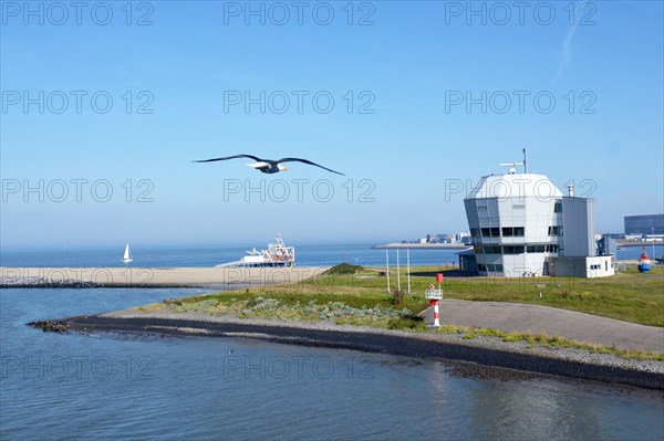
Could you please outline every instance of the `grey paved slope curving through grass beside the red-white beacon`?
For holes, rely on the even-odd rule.
[[[664,353],[664,328],[558,309],[549,306],[500,302],[443,300],[440,324],[490,327],[508,333],[547,333],[569,340],[615,345],[622,349]],[[426,323],[434,322],[433,307],[425,309]]]

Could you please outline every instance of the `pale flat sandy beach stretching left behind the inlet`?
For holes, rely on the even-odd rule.
[[[328,267],[0,267],[3,287],[242,287],[300,283]]]

